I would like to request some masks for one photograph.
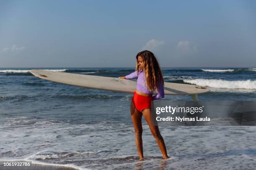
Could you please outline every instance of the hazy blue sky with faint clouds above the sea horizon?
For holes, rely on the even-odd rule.
[[[0,1],[0,67],[255,67],[254,0]]]

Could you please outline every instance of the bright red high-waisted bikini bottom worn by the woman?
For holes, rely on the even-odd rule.
[[[138,95],[136,92],[133,93],[132,102],[138,111],[142,111],[146,108],[151,107],[152,96],[142,96]]]

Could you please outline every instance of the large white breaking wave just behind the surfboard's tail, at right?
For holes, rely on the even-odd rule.
[[[194,79],[188,80],[185,79],[184,82],[207,86],[213,88],[227,88],[227,89],[256,89],[256,81],[252,80],[217,80],[217,79]]]

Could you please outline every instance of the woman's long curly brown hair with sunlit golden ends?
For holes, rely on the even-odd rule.
[[[164,78],[160,69],[159,63],[154,54],[150,51],[141,51],[136,55],[136,70],[139,72],[138,57],[141,56],[144,60],[143,72],[145,75],[146,86],[150,92],[157,90],[160,83],[164,85]]]

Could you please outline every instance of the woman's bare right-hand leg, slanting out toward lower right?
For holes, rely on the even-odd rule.
[[[160,134],[158,126],[154,126],[151,122],[151,109],[150,108],[144,109],[144,110],[142,110],[142,113],[143,113],[143,116],[144,116],[146,122],[148,123],[148,126],[150,128],[152,135],[156,139],[156,143],[158,144],[158,146],[163,154],[163,158],[164,159],[170,158],[167,155],[166,147],[164,144],[164,139],[163,139],[162,135]]]

